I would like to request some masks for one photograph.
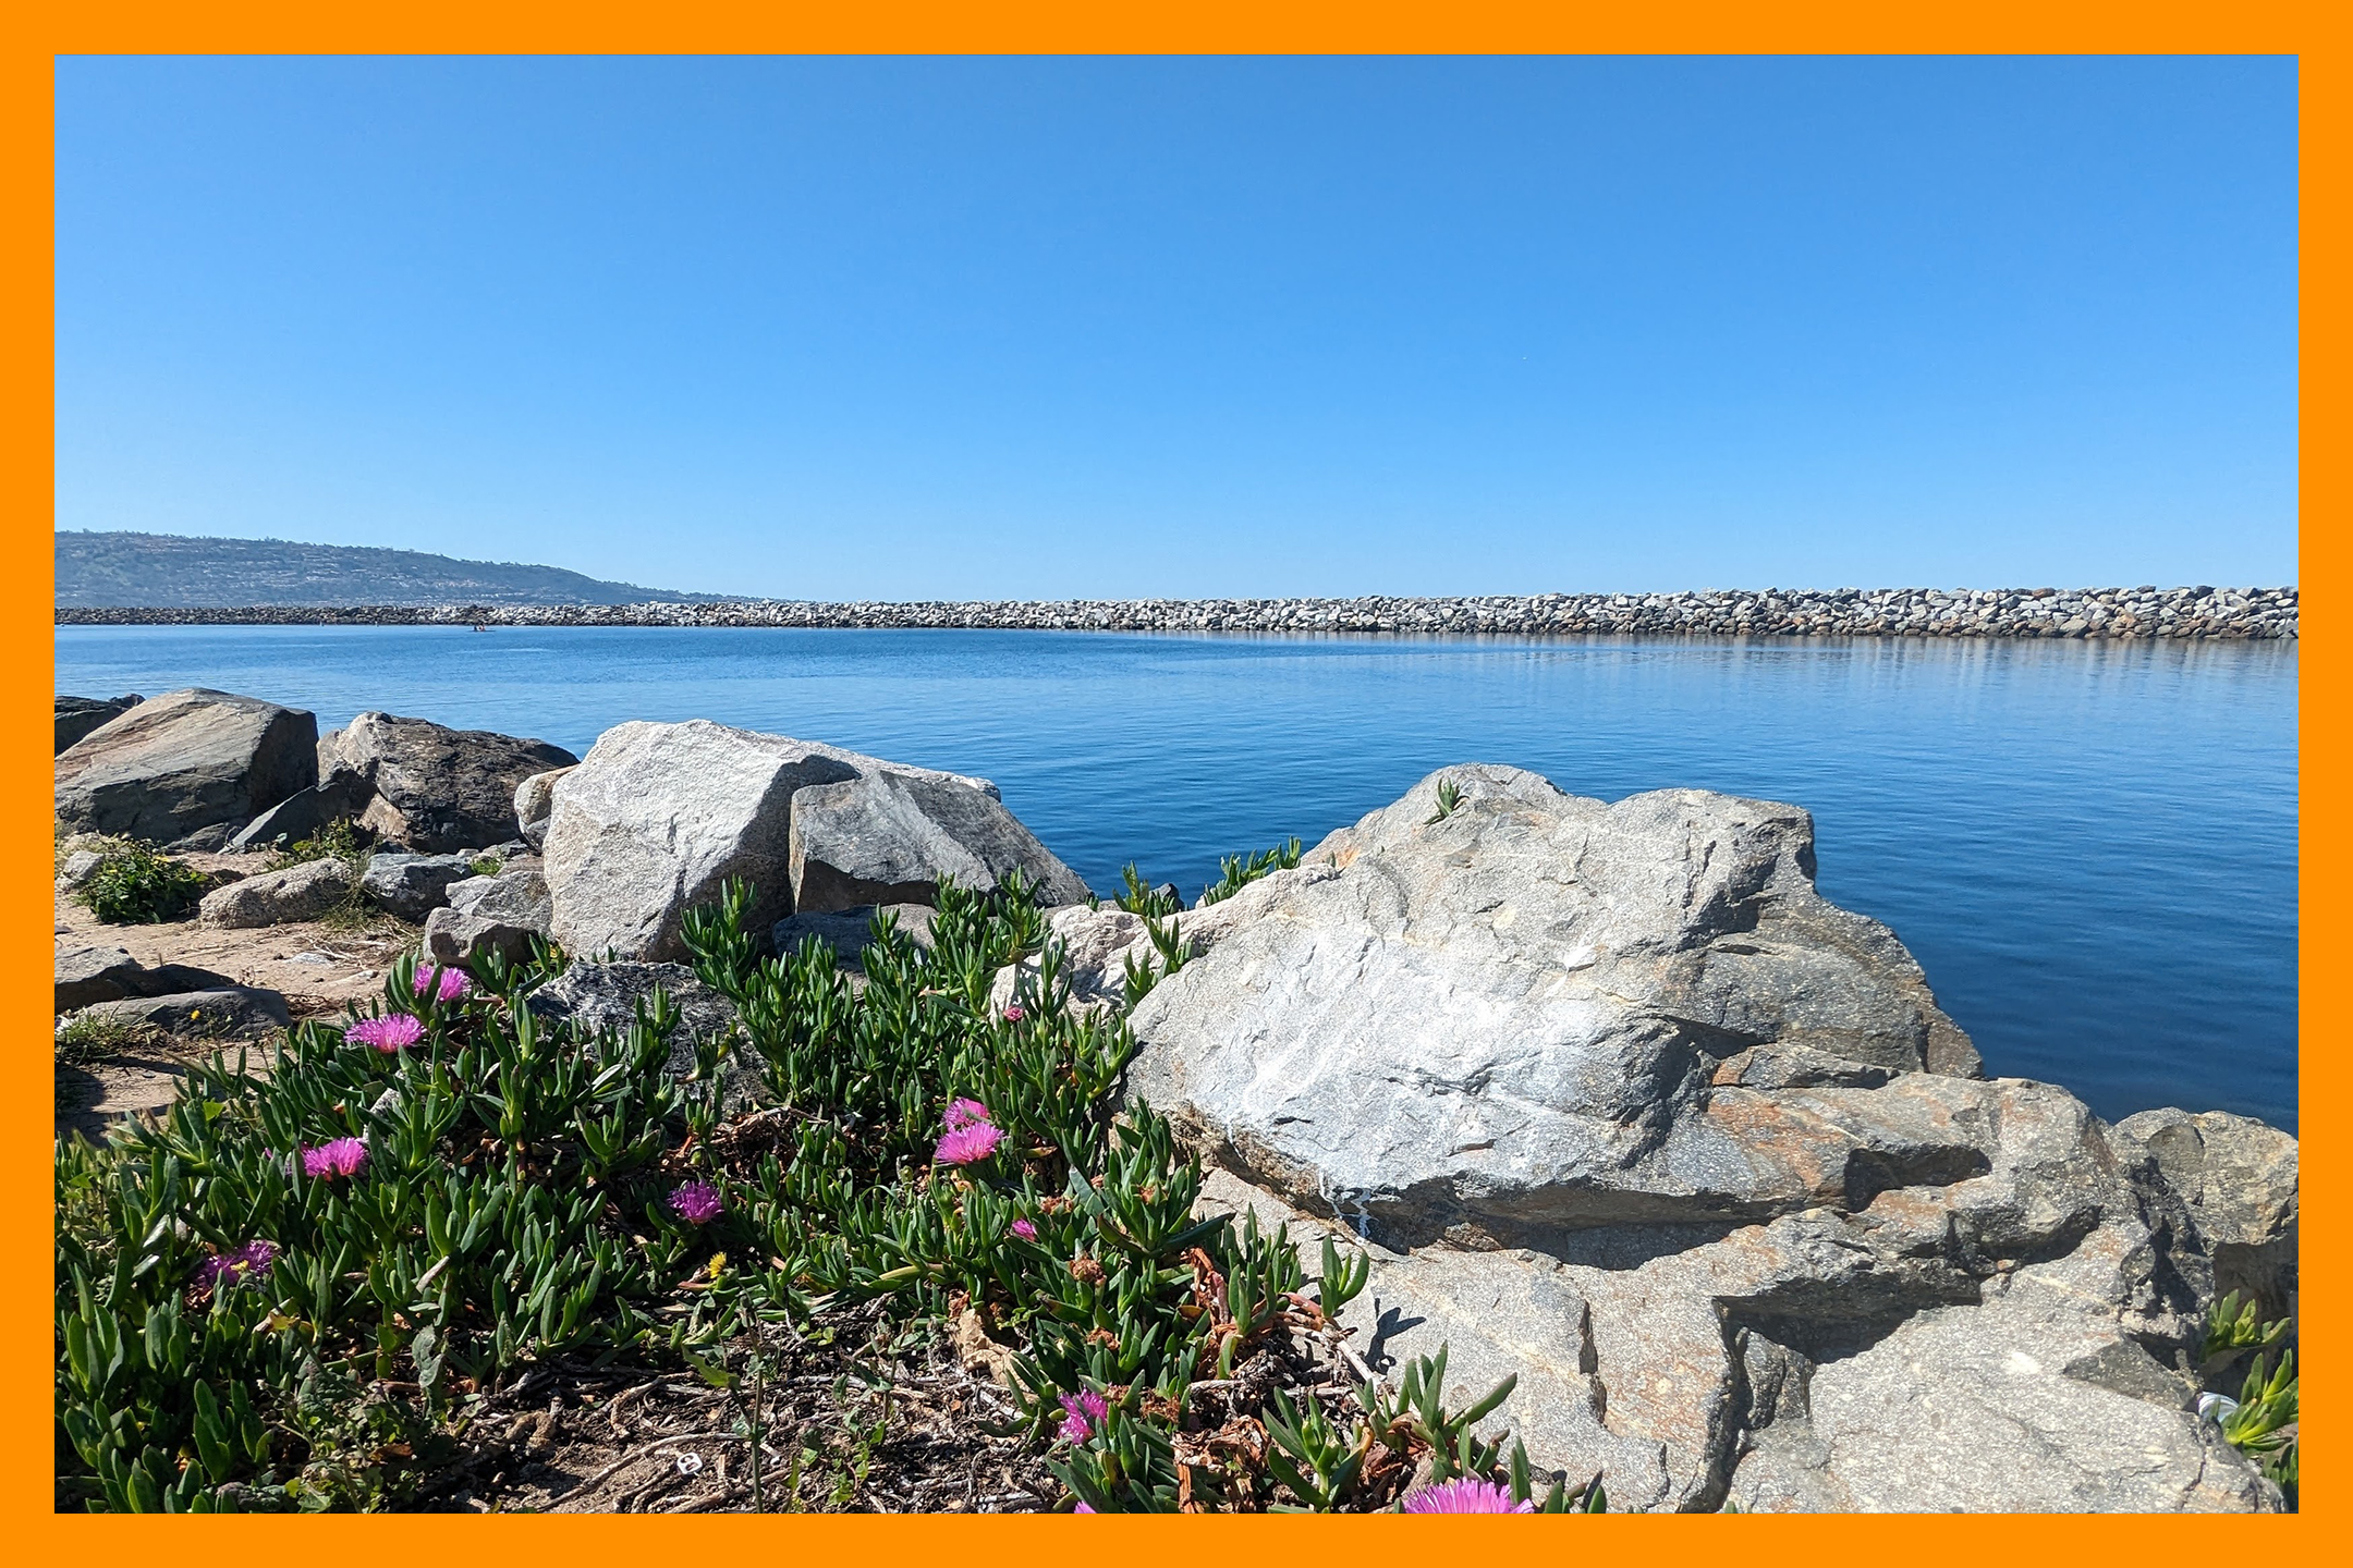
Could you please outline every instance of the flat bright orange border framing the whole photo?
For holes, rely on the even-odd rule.
[[[991,7],[948,7],[939,0],[901,0],[887,14],[859,16],[847,9],[814,5],[744,5],[725,0],[687,0],[685,5],[640,9],[612,0],[576,0],[555,5],[527,0],[485,7],[452,0],[414,0],[409,5],[320,7],[261,0],[226,7],[162,7],[155,0],[125,0],[104,12],[78,16],[28,5],[0,21],[7,45],[0,47],[0,223],[12,244],[0,313],[0,360],[5,360],[7,418],[0,423],[5,454],[7,524],[0,527],[0,616],[7,658],[0,663],[0,698],[5,698],[5,764],[0,764],[0,865],[16,898],[0,905],[0,954],[5,954],[5,999],[12,1032],[24,1048],[47,1032],[38,1013],[40,980],[35,957],[47,952],[49,933],[35,929],[35,912],[47,896],[49,846],[38,825],[49,816],[49,795],[40,769],[47,757],[38,741],[47,736],[49,689],[40,672],[52,665],[52,574],[54,557],[42,550],[52,529],[52,110],[56,54],[104,52],[2292,52],[2301,59],[2301,188],[2304,256],[2320,263],[2322,280],[2334,277],[2332,261],[2341,205],[2341,99],[2337,54],[2329,40],[2339,28],[2325,24],[2318,5],[2282,5],[2257,0],[2228,9],[2188,7],[2179,0],[2151,5],[2026,5],[1988,0],[1951,14],[1918,12],[1892,5],[1800,2],[1784,7],[1734,7],[1725,0],[1701,0],[1671,14],[1617,12],[1602,7],[1527,5],[1525,0],[1480,0],[1468,7],[1407,7],[1398,0],[1311,0],[1280,12],[1249,0],[1195,0],[1191,5],[1082,7],[1068,0],[1000,0]],[[2304,341],[2320,374],[2306,376],[2306,418],[2318,409],[2318,428],[2334,425],[2334,348],[2341,336],[2334,294],[2322,287],[2308,294]],[[2337,454],[2329,442],[2306,442],[2320,451],[2318,482],[2306,494],[2322,496],[2322,517],[2332,515],[2327,498],[2337,494]],[[2301,583],[2306,609],[2315,618],[2308,644],[2315,668],[2304,672],[2304,764],[2301,778],[2320,785],[2315,811],[2304,813],[2301,903],[2315,919],[2304,933],[2299,978],[2304,994],[2325,985],[2337,940],[2353,936],[2339,922],[2337,905],[2320,893],[2353,872],[2339,825],[2344,790],[2334,788],[2348,762],[2337,710],[2346,701],[2344,654],[2339,651],[2341,536],[2334,527],[2306,527],[2301,557],[2308,578]],[[2315,625],[2318,623],[2318,625]],[[2313,719],[2320,719],[2318,724]],[[2315,827],[2318,825],[2318,827]],[[2306,1020],[2301,1034],[2304,1063],[2325,1063],[2332,1046],[2344,1046],[2348,1030],[2329,1016]],[[1986,1552],[2047,1549],[2071,1554],[2146,1554],[2179,1559],[2184,1554],[2301,1552],[2318,1547],[2346,1516],[2344,1472],[2337,1469],[2337,1441],[2344,1436],[2341,1378],[2334,1352],[2346,1345],[2344,1267],[2334,1244],[2341,1239],[2339,1201],[2344,1168],[2346,1086],[2332,1074],[2299,1070],[2304,1105],[2304,1190],[2315,1197],[2308,1234],[2313,1237],[2313,1288],[2304,1293],[2311,1333],[2320,1347],[2315,1368],[2306,1375],[2306,1401],[2318,1403],[2322,1420],[2315,1443],[2306,1446],[2306,1512],[2294,1519],[2240,1526],[2264,1530],[2238,1535],[2221,1523],[2137,1519],[1974,1519],[1953,1530],[1918,1516],[1835,1516],[1769,1521],[1657,1521],[1586,1519],[1569,1523],[1560,1544],[1569,1552],[1598,1547],[1605,1552],[1642,1552],[1645,1556],[1699,1556],[1701,1552],[1739,1549],[1760,1556],[1814,1556],[1824,1547],[1849,1552],[1901,1549],[1913,1559],[1984,1561]],[[793,1554],[859,1554],[866,1559],[1038,1559],[1073,1552],[1101,1554],[1106,1544],[1122,1549],[1235,1549],[1242,1533],[1259,1535],[1259,1552],[1292,1556],[1322,1547],[1299,1530],[1318,1528],[1299,1521],[1228,1521],[1179,1523],[1165,1519],[795,1519],[692,1516],[675,1521],[640,1519],[569,1519],[569,1521],[489,1521],[489,1519],[320,1519],[308,1526],[280,1521],[184,1521],[155,1526],[146,1521],[101,1521],[52,1514],[49,1472],[54,1443],[52,1413],[52,1342],[54,1324],[47,1309],[49,1262],[42,1246],[49,1234],[49,1175],[40,1145],[26,1135],[0,1147],[0,1192],[7,1194],[7,1246],[0,1248],[0,1507],[24,1516],[38,1535],[21,1537],[19,1549],[49,1559],[66,1552],[172,1552],[186,1554],[202,1530],[209,1549],[318,1549],[336,1554],[414,1559],[419,1549],[473,1542],[501,1554],[558,1554],[572,1561],[619,1561],[633,1552],[713,1549],[786,1549]],[[2332,1328],[2334,1326],[2334,1328]],[[2318,1375],[2311,1375],[2318,1373]],[[2339,1415],[2329,1415],[2337,1410]],[[2332,1481],[2332,1476],[2337,1476]],[[1553,1540],[1527,1535],[1511,1521],[1452,1521],[1445,1540],[1426,1535],[1431,1526],[1337,1521],[1322,1526],[1344,1535],[1327,1537],[1355,1552],[1405,1547],[1414,1554],[1445,1556],[1480,1552],[1532,1559],[1551,1556]],[[2158,1530],[2165,1530],[2162,1535]],[[169,1535],[160,1533],[169,1530]],[[235,1542],[216,1540],[214,1530],[233,1530]],[[304,1530],[296,1537],[289,1530]],[[1073,1540],[1073,1533],[1087,1535]],[[1414,1537],[1369,1530],[1409,1530]],[[2174,1530],[2214,1530],[2214,1535],[2177,1535]],[[2226,1533],[2228,1530],[2228,1533]],[[2271,1535],[2280,1530],[2280,1535]],[[2315,1535],[2304,1535],[2315,1530]],[[1184,1533],[1184,1535],[1179,1535]],[[1264,1533],[1285,1533],[1273,1540]],[[1468,1533],[1468,1535],[1466,1535]],[[2325,1535],[2322,1535],[2325,1533]],[[1734,1540],[1739,1542],[1734,1547]]]

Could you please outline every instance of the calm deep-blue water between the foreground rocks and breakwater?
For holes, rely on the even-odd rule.
[[[588,628],[59,628],[56,689],[539,736],[708,717],[995,778],[1188,896],[1454,762],[1814,813],[1991,1072],[2297,1126],[2297,646]]]

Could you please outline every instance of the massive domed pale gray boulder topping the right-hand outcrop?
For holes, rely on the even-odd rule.
[[[1438,778],[1461,804],[1431,823]],[[1840,1100],[1861,1091],[1793,1091],[1824,1103],[1800,1112],[1713,1088],[1762,1044],[1977,1072],[1901,943],[1824,903],[1812,863],[1795,806],[1697,790],[1605,806],[1518,769],[1447,769],[1179,917],[1202,952],[1136,1004],[1129,1093],[1393,1239],[1760,1220],[1824,1182],[1946,1164],[1953,1180],[1981,1150],[1913,1105],[1927,1091],[1868,1110]],[[1847,1110],[1864,1124],[1835,1126]]]

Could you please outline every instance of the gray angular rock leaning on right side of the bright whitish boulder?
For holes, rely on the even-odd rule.
[[[1026,872],[1049,905],[1087,884],[998,799],[951,778],[868,771],[793,797],[793,910],[939,903],[939,884],[993,893]]]

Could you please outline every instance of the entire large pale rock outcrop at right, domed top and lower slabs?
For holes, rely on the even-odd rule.
[[[1494,1427],[1614,1507],[2280,1507],[2193,1410],[2191,1206],[1981,1079],[1812,851],[1793,806],[1447,769],[1179,914],[1127,1088],[1221,1206],[1372,1255],[1377,1368],[1518,1375]],[[1139,957],[1113,914],[1054,919],[1078,1001]]]

